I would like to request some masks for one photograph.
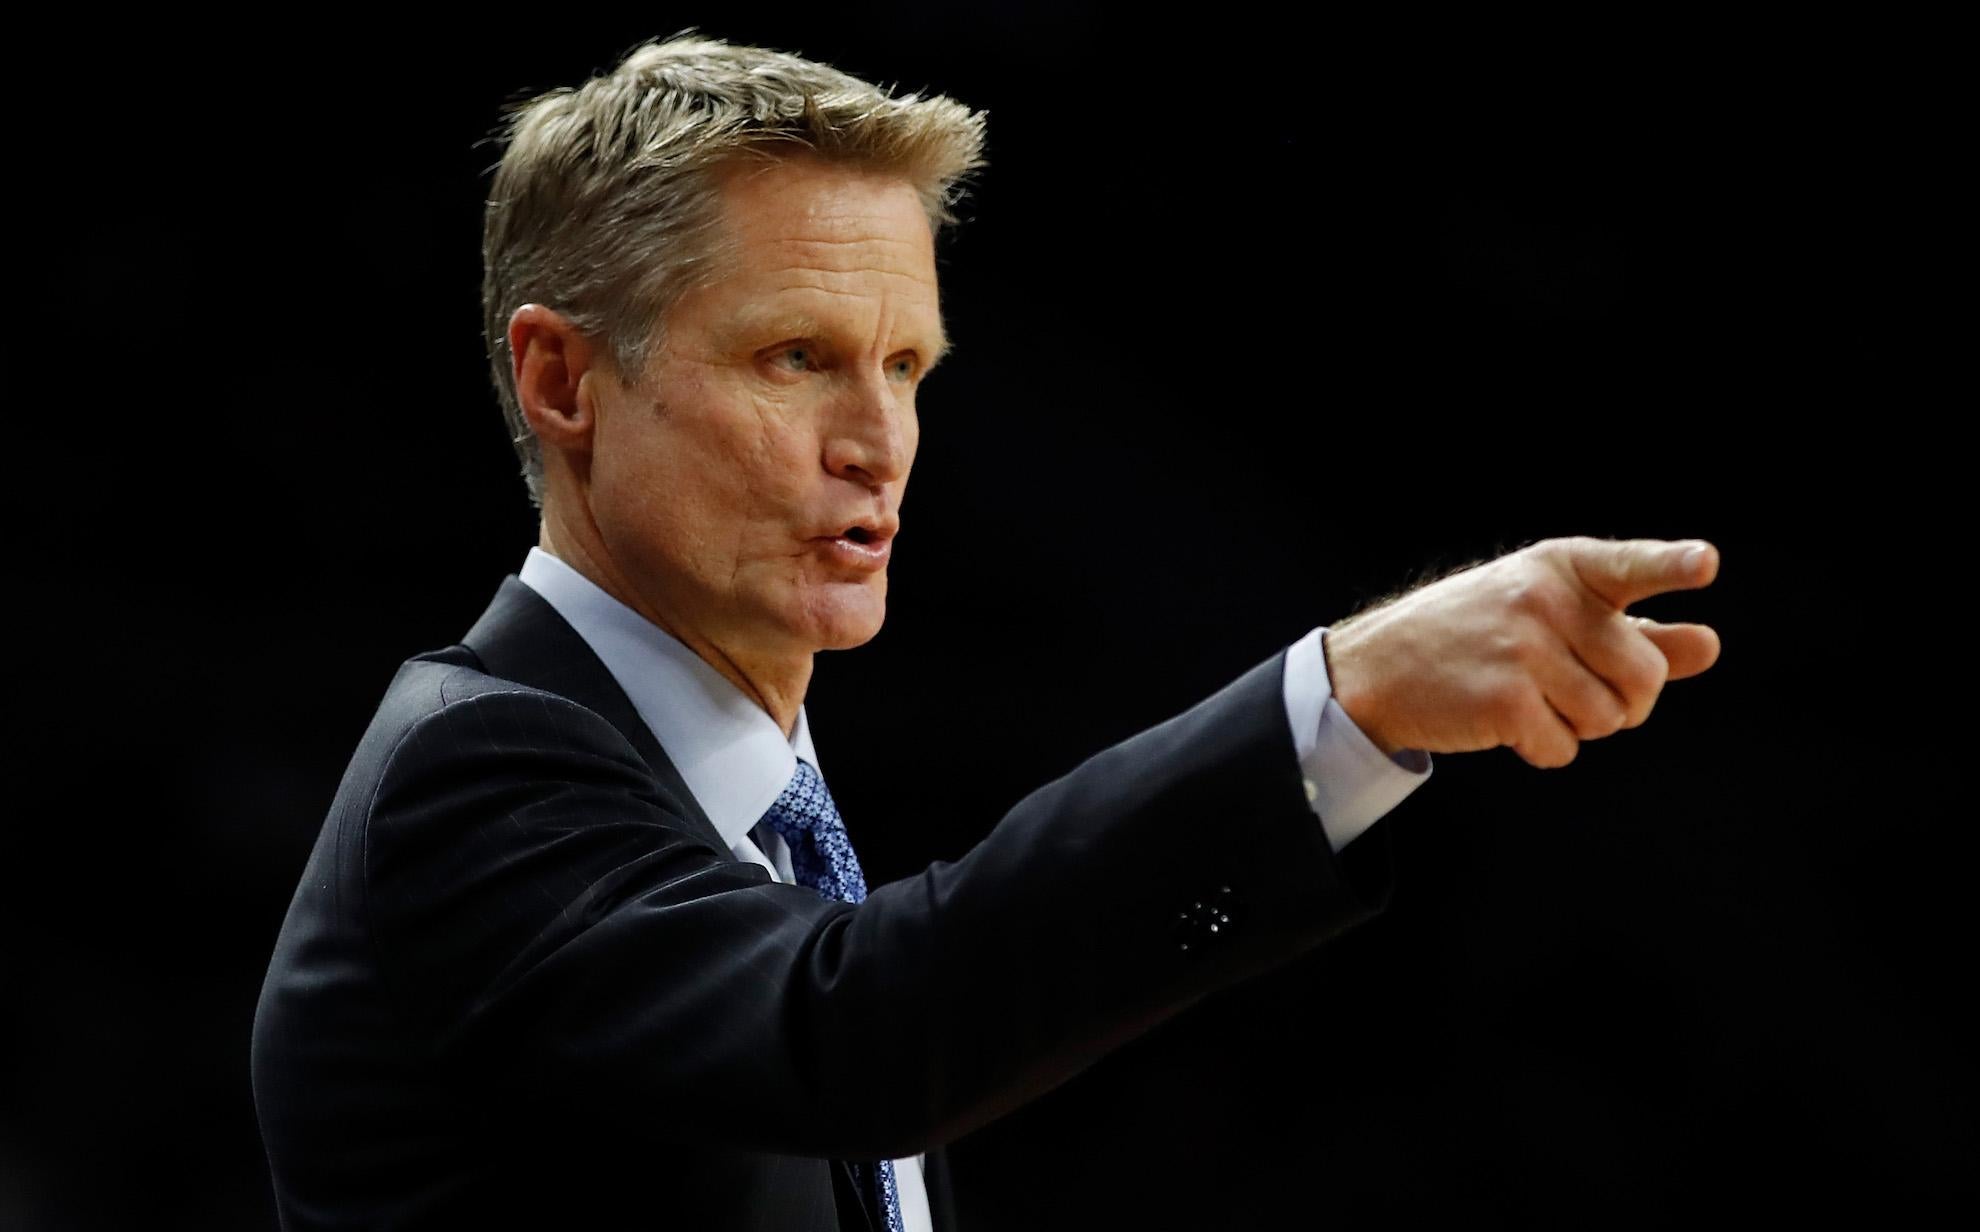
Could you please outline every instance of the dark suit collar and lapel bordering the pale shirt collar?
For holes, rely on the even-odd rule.
[[[513,679],[533,689],[568,697],[592,713],[604,717],[640,753],[647,769],[681,802],[681,820],[699,838],[723,856],[735,858],[723,842],[709,814],[701,810],[695,792],[687,790],[687,780],[673,767],[665,749],[653,739],[653,729],[645,725],[634,709],[626,689],[612,679],[612,671],[592,654],[578,630],[556,614],[541,594],[523,584],[523,578],[509,574],[489,602],[487,612],[461,638],[481,660],[489,675]]]

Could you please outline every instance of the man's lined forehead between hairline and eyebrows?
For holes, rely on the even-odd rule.
[[[701,311],[881,311],[940,335],[935,236],[911,182],[806,156],[729,166],[717,184],[735,263],[697,295]]]

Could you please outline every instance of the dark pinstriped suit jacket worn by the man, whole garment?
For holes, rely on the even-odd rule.
[[[283,1224],[877,1228],[842,1161],[927,1151],[954,1228],[944,1143],[1384,905],[1386,836],[1348,870],[1307,806],[1281,671],[853,907],[737,860],[507,578],[392,679],[281,929]]]

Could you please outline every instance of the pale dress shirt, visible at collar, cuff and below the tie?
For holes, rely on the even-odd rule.
[[[533,547],[521,578],[556,608],[626,689],[729,850],[794,885],[790,848],[760,822],[798,770],[800,757],[824,774],[804,705],[784,739],[776,719],[721,671],[570,565]],[[1384,757],[1340,709],[1321,652],[1325,632],[1313,630],[1285,656],[1285,713],[1307,802],[1338,852],[1430,778],[1430,757],[1416,751]],[[933,1232],[923,1157],[893,1163],[907,1232]]]

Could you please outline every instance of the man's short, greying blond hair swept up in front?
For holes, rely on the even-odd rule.
[[[513,105],[483,214],[481,309],[531,503],[543,507],[543,450],[515,390],[515,309],[556,309],[638,378],[663,345],[667,311],[735,267],[725,166],[808,153],[897,174],[939,236],[984,166],[984,123],[946,95],[893,97],[893,87],[693,28],[634,48],[584,85]]]

